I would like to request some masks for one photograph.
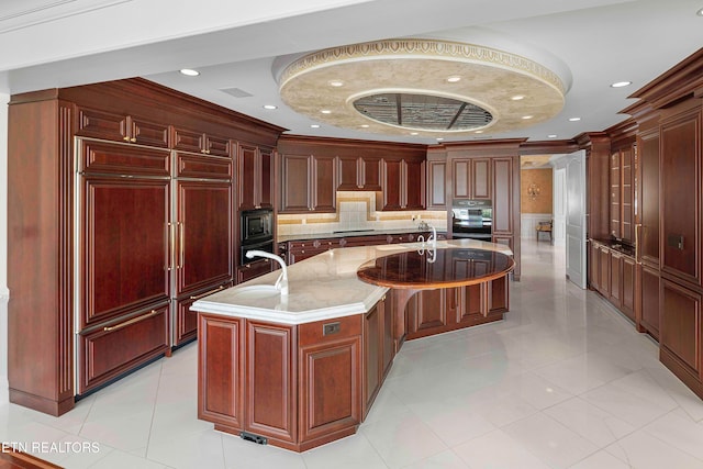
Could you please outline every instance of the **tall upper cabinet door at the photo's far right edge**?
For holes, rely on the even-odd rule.
[[[661,125],[661,271],[701,284],[701,113]]]

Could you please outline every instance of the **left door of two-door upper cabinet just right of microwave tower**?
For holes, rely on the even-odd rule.
[[[310,156],[281,155],[281,179],[280,212],[310,212]]]

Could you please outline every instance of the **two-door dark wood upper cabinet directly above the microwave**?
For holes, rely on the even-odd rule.
[[[274,209],[274,150],[239,143],[236,165],[238,210]]]

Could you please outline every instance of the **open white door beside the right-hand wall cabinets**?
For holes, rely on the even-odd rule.
[[[585,288],[585,152],[567,156],[567,278]]]

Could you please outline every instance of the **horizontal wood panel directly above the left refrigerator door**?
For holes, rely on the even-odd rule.
[[[170,152],[82,139],[79,170],[92,174],[168,177]]]

